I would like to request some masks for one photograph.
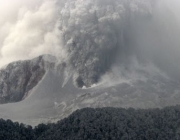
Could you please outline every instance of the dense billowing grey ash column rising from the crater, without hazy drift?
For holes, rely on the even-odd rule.
[[[131,22],[149,18],[150,1],[76,0],[61,10],[60,30],[79,86],[90,86],[107,72],[116,56],[129,59]],[[125,58],[124,58],[125,57]]]

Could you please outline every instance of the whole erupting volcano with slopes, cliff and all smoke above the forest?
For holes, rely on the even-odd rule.
[[[0,117],[180,102],[177,0],[0,1]],[[11,10],[7,10],[11,9]]]

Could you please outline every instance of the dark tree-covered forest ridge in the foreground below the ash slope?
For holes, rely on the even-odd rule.
[[[0,140],[180,140],[180,106],[85,108],[35,128],[0,119]]]

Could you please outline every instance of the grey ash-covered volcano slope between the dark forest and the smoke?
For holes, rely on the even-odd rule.
[[[28,93],[29,96],[20,102],[11,100],[15,103],[0,105],[0,118],[35,126],[38,123],[56,122],[67,117],[73,111],[84,107],[157,108],[176,105],[180,101],[179,82],[160,75],[146,76],[148,80],[119,81],[117,84],[113,83],[115,80],[112,79],[111,84],[107,81],[91,88],[77,88],[74,86],[71,76],[64,76],[66,70],[59,69],[62,68],[61,66],[58,69],[54,67],[54,61],[44,57],[38,57],[30,62],[24,61],[31,63],[31,65],[28,65],[29,70],[27,71],[33,76],[30,77],[31,80],[27,80],[28,84],[23,87],[25,92],[21,92],[20,100],[24,99]],[[36,72],[32,72],[32,66],[35,64],[40,68]],[[1,72],[7,71],[7,68],[8,66]],[[19,67],[19,70],[21,69]],[[45,74],[41,77],[37,76],[40,75],[40,70],[45,71]],[[15,68],[13,72],[18,73]],[[15,77],[16,73],[13,74],[13,72],[10,75]],[[20,90],[23,85],[20,79],[27,76],[25,72],[22,73],[16,78],[17,82],[20,83],[15,88],[16,90]],[[13,87],[16,82],[12,82],[10,79],[9,82]],[[37,83],[31,82],[33,79]],[[15,92],[12,92],[12,87],[8,85],[8,88],[11,89],[9,90],[11,91],[10,96],[18,97],[15,94],[13,95]],[[32,87],[32,89],[28,87]],[[8,102],[10,101],[8,100]]]

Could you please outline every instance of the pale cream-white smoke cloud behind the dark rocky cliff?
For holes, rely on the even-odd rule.
[[[56,0],[0,1],[0,66],[61,51]]]

